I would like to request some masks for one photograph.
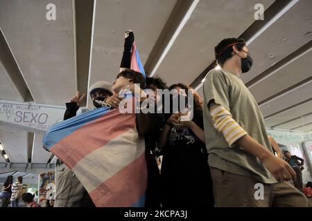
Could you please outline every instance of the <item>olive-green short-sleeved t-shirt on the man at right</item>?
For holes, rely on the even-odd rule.
[[[223,134],[212,124],[208,104],[214,100],[215,104],[220,104],[232,113],[233,119],[254,140],[273,153],[259,106],[241,78],[224,69],[210,70],[203,85],[203,93],[209,165],[229,173],[254,177],[266,184],[276,183],[277,180],[257,157],[239,146],[229,147]]]

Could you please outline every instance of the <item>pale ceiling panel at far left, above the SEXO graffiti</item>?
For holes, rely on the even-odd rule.
[[[0,1],[0,27],[35,102],[64,105],[76,92],[73,8],[71,1],[53,1],[57,19],[47,21],[48,3]]]

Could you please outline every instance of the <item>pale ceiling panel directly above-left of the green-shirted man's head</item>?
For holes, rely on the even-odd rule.
[[[178,35],[156,75],[166,82],[191,82],[214,61],[214,46],[238,37],[254,22],[257,0],[200,1]],[[273,0],[261,1],[268,8]]]

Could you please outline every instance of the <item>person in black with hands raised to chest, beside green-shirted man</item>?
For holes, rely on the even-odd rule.
[[[173,99],[187,99],[189,90],[185,84],[173,84],[169,90],[177,90]],[[193,90],[190,90],[193,91]],[[211,177],[207,164],[207,151],[202,122],[199,95],[194,91],[193,119],[184,120],[180,110],[172,113],[162,129],[159,148],[162,149],[162,206],[212,206]],[[184,103],[185,104],[185,103]],[[188,104],[187,104],[188,105]]]

